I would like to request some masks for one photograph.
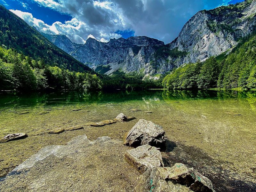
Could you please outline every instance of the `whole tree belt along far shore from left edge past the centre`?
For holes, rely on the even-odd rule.
[[[118,72],[112,76],[75,72],[34,60],[14,49],[0,47],[0,90],[142,90],[159,88],[162,79],[143,78],[142,74]]]

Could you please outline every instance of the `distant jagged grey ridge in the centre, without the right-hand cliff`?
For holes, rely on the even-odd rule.
[[[124,72],[139,71],[148,68],[156,48],[163,46],[164,42],[147,36],[129,37],[127,39],[110,39],[109,42],[99,42],[94,38],[88,38],[83,45],[72,43],[68,37],[62,35],[45,35],[53,44],[68,52],[75,59],[100,71],[106,67],[111,74],[118,69]],[[72,50],[72,47],[75,47]],[[149,69],[151,71],[151,69]]]

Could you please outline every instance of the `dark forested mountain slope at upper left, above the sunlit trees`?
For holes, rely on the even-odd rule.
[[[92,71],[69,54],[52,44],[35,28],[0,5],[0,44],[13,48],[35,60],[71,71]]]

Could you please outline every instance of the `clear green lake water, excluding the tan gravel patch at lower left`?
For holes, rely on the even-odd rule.
[[[132,108],[141,111],[130,112]],[[22,112],[29,113],[20,115]],[[42,112],[49,113],[40,115]],[[162,152],[166,164],[183,162],[208,172],[205,174],[217,191],[232,191],[241,185],[249,191],[255,186],[256,91],[2,93],[0,137],[26,132],[28,138],[0,144],[0,176],[40,148],[65,144],[77,135],[122,140],[137,120],[48,134],[53,128],[113,119],[119,113],[163,126],[170,140],[167,151]]]

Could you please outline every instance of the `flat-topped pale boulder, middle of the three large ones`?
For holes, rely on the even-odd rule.
[[[150,145],[142,145],[126,151],[124,159],[141,173],[154,167],[164,166],[161,152]]]

